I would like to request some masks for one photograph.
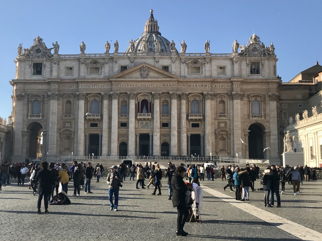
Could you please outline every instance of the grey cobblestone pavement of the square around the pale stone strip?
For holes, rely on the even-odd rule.
[[[32,190],[17,186],[10,180],[0,193],[0,240],[242,240],[294,241],[301,240],[241,210],[209,192],[204,191],[203,223],[186,223],[188,237],[176,237],[176,209],[168,200],[166,180],[162,181],[162,195],[153,196],[150,189],[135,189],[136,181],[125,181],[120,190],[119,211],[110,211],[105,178],[91,183],[92,194],[70,198],[70,205],[49,206],[49,214],[37,214],[37,196]],[[234,197],[224,181],[204,181],[202,185]],[[259,188],[259,181],[255,187]],[[69,196],[72,194],[69,184]],[[250,193],[247,202],[262,210],[321,232],[321,181],[305,182],[301,195],[294,196],[291,185],[281,195],[282,208],[264,208],[263,192]],[[233,199],[234,200],[234,199]],[[275,204],[276,205],[276,204]],[[44,208],[42,206],[42,211]],[[309,234],[308,234],[309,235]],[[321,233],[322,237],[322,233]],[[309,239],[308,239],[309,240]],[[321,239],[322,240],[322,239]]]

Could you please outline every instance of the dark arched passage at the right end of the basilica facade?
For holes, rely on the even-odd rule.
[[[263,139],[263,131],[264,128],[258,124],[251,124],[248,128],[249,136],[248,136],[248,152],[250,159],[263,159],[264,154],[264,139]]]

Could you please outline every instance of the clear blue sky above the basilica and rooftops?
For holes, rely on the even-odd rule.
[[[231,53],[234,39],[247,43],[256,33],[274,43],[279,59],[277,74],[288,82],[302,70],[322,63],[320,20],[322,1],[1,1],[0,116],[11,113],[17,47],[33,45],[39,35],[47,47],[58,41],[60,54],[78,54],[81,41],[86,53],[103,53],[106,40],[118,40],[119,52],[128,40],[138,38],[153,5],[162,36],[187,43],[187,52]]]

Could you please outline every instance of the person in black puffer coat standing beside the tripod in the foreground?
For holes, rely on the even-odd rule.
[[[185,167],[177,166],[175,172],[172,175],[171,186],[172,186],[172,204],[173,207],[177,208],[177,236],[187,236],[187,232],[183,230],[185,226],[185,220],[189,214],[188,208],[185,205],[185,191],[188,190],[183,176],[185,174]]]

